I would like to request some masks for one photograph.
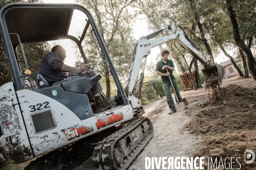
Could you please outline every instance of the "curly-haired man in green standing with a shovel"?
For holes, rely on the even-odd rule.
[[[174,86],[174,90],[177,94],[179,102],[183,102],[183,101],[182,101],[182,97],[180,96],[180,91],[179,91],[179,86],[177,84],[177,81],[176,81],[174,75],[172,74],[172,71],[175,70],[174,69],[175,65],[174,65],[172,59],[168,59],[170,53],[168,50],[163,50],[163,51],[161,51],[160,54],[161,54],[162,59],[159,62],[157,62],[156,71],[157,71],[157,74],[159,76],[161,76],[161,78],[162,78],[163,90],[164,90],[164,93],[166,94],[167,103],[169,105],[169,108],[171,109],[171,112],[169,112],[169,114],[173,114],[177,111],[174,107],[174,101],[172,99],[172,94],[170,93],[170,86],[172,86],[172,85],[171,85],[169,76],[172,79],[172,84]],[[166,68],[168,69],[168,72],[166,71]]]

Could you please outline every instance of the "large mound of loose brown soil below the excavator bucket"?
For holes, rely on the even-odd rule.
[[[242,170],[256,170],[256,164],[244,163],[244,150],[256,153],[256,88],[231,84],[218,90],[219,101],[202,103],[186,125],[187,130],[204,137],[200,156],[240,157]],[[232,166],[239,167],[237,162]]]

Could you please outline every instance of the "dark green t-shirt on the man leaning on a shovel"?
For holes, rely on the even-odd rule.
[[[167,59],[166,63],[164,63],[163,60],[161,59],[159,62],[157,62],[156,71],[160,71],[161,73],[166,74],[167,73],[166,69],[162,70],[163,66],[165,66],[165,65],[167,65],[169,67],[175,67],[172,59]],[[172,71],[169,69],[168,69],[168,71],[170,72],[171,79],[172,80],[175,79],[174,75],[172,74]],[[161,76],[161,78],[162,78],[163,82],[170,82],[168,76]]]

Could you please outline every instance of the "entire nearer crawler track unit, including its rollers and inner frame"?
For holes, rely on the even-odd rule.
[[[137,119],[111,134],[94,148],[93,161],[99,170],[126,170],[154,135],[147,117]]]

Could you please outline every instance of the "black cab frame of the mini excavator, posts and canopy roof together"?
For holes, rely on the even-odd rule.
[[[83,12],[87,17],[83,32],[79,37],[68,34],[74,10]],[[103,62],[108,64],[116,83],[119,91],[119,102],[124,105],[129,103],[95,20],[92,14],[83,6],[78,4],[13,3],[1,9],[0,23],[15,90],[26,89],[24,77],[29,78],[33,90],[30,75],[23,74],[20,68],[20,62],[24,62],[26,69],[29,70],[22,48],[23,43],[70,39],[76,42],[84,63],[88,63],[82,42],[85,34],[91,34],[100,57],[102,57]],[[91,30],[88,30],[89,26],[92,28]],[[17,47],[19,45],[23,60],[19,60],[17,57]]]

